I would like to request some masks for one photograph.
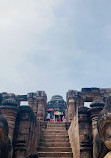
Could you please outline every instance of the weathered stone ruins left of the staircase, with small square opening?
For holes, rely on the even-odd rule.
[[[29,106],[20,106],[21,101],[28,101]],[[0,138],[3,137],[1,134],[7,138],[5,140],[7,142],[0,141],[0,157],[26,158],[33,157],[33,155],[37,157],[40,138],[39,121],[45,119],[46,93],[37,91],[28,95],[15,95],[3,92],[0,93],[0,105],[9,129],[9,133],[6,135],[1,132],[4,129],[0,126]],[[0,125],[2,125],[1,122]]]

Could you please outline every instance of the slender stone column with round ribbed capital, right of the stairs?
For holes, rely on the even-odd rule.
[[[91,109],[89,111],[91,112],[91,119],[92,119],[92,135],[93,135],[93,158],[97,158],[96,156],[96,137],[98,135],[97,130],[97,119],[98,114],[104,107],[104,102],[101,100],[95,100],[90,104]]]

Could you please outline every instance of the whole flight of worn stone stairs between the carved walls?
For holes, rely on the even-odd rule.
[[[47,128],[42,131],[38,156],[39,158],[73,158],[65,123],[48,122]]]

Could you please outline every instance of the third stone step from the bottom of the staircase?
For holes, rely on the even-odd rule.
[[[39,146],[42,147],[70,147],[69,142],[40,142]]]

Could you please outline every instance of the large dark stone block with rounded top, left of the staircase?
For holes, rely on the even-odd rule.
[[[14,131],[14,158],[26,158],[37,153],[40,125],[29,106],[21,106]]]

